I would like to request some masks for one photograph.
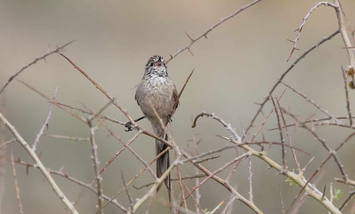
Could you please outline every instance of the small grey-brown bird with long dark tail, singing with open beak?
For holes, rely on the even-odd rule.
[[[151,122],[154,134],[159,135],[164,129],[162,128],[159,119],[154,114],[153,108],[148,100],[152,102],[159,117],[162,118],[164,122],[166,122],[166,120],[170,122],[172,115],[169,114],[171,109],[173,109],[177,98],[178,92],[176,91],[173,80],[171,80],[168,75],[168,69],[163,57],[159,55],[152,56],[146,64],[146,71],[144,72],[143,79],[137,86],[135,99],[141,107],[144,116]],[[176,108],[178,107],[178,104],[176,105]],[[168,135],[163,132],[162,138],[167,141]],[[164,143],[155,140],[156,155],[160,154],[166,148],[167,146]],[[160,178],[169,166],[169,151],[167,151],[157,159],[157,177]],[[168,190],[170,201],[170,173],[168,177],[165,178],[164,183]],[[157,193],[161,186],[162,184],[157,188]]]

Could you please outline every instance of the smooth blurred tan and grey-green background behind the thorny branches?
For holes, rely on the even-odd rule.
[[[185,31],[192,38],[196,38],[209,29],[221,18],[238,10],[251,1],[1,1],[0,6],[0,85],[22,66],[32,62],[35,57],[42,56],[48,49],[55,49],[56,45],[63,45],[68,41],[77,41],[63,52],[74,63],[83,69],[93,80],[100,83],[111,95],[116,93],[117,101],[122,107],[128,107],[132,118],[142,116],[139,106],[134,100],[135,89],[131,90],[141,80],[144,65],[153,54],[162,55],[165,60],[169,54],[176,52],[176,46],[182,48],[190,43]],[[355,28],[355,1],[341,1],[345,12],[349,16],[352,27]],[[206,38],[198,40],[189,51],[184,51],[168,63],[168,71],[174,80],[176,88],[180,91],[187,76],[196,66],[189,84],[186,86],[180,99],[180,107],[174,115],[173,134],[175,142],[187,151],[193,151],[192,118],[198,113],[214,112],[227,123],[236,128],[242,135],[241,124],[247,127],[259,108],[254,102],[261,103],[268,95],[268,91],[276,83],[277,78],[301,55],[304,50],[318,43],[324,36],[328,36],[338,28],[335,11],[331,7],[321,6],[313,12],[302,29],[297,48],[289,62],[286,62],[293,44],[286,39],[294,40],[302,17],[314,5],[310,0],[268,1],[263,0],[236,17],[224,22]],[[336,116],[346,116],[346,103],[343,77],[340,65],[348,65],[348,56],[340,34],[327,41],[310,54],[285,77],[284,82],[294,86],[303,94],[312,98],[317,104],[326,108]],[[32,85],[45,95],[52,97],[59,85],[56,101],[71,106],[83,107],[84,103],[92,111],[98,111],[108,99],[90,83],[81,73],[58,54],[47,57],[26,69],[19,79]],[[279,85],[275,95],[280,95],[285,86]],[[350,101],[354,112],[354,91],[350,92]],[[32,145],[35,137],[42,127],[49,110],[49,103],[35,94],[26,86],[12,81],[6,88],[7,116],[6,118],[15,126],[23,138]],[[314,118],[325,115],[314,106],[307,103],[291,90],[286,90],[281,105],[292,109],[295,114],[304,120],[316,113]],[[267,114],[271,109],[268,103],[263,112]],[[76,112],[80,113],[80,112]],[[128,120],[115,106],[110,106],[104,113],[117,120]],[[87,115],[82,114],[87,117]],[[264,119],[260,115],[255,123],[259,126]],[[287,118],[288,123],[293,123]],[[348,122],[348,120],[344,120]],[[126,133],[124,127],[106,122],[122,140],[127,141],[136,133]],[[152,131],[147,120],[138,123],[140,127]],[[280,141],[278,131],[267,131],[277,125],[275,114],[269,118],[262,129],[266,140]],[[250,139],[257,128],[248,133]],[[199,151],[209,151],[229,144],[215,134],[229,137],[230,133],[222,125],[211,118],[200,118],[195,131],[201,139]],[[334,126],[316,127],[317,133],[332,148],[345,139],[352,131]],[[86,124],[72,118],[60,109],[53,107],[49,120],[48,134],[88,137],[89,130]],[[104,166],[122,145],[113,137],[107,137],[108,132],[101,128],[97,131],[98,156]],[[290,129],[290,135],[295,147],[311,153],[307,156],[297,152],[301,168],[313,157],[316,158],[305,172],[309,178],[328,154],[320,142],[310,133],[301,128]],[[6,140],[12,135],[6,131]],[[261,140],[260,134],[257,140]],[[338,154],[349,174],[354,179],[355,141],[352,139]],[[33,163],[24,152],[19,143],[12,143],[14,155],[21,160]],[[154,140],[148,136],[140,136],[131,144],[141,157],[148,162],[154,158]],[[258,149],[257,146],[254,148]],[[10,157],[9,147],[4,151]],[[94,178],[92,167],[91,146],[89,142],[77,142],[52,139],[42,136],[37,147],[37,154],[42,152],[41,160],[50,169],[63,171],[74,178],[90,183]],[[239,149],[239,152],[242,152]],[[203,165],[213,171],[235,157],[235,151],[218,153],[222,157]],[[173,152],[171,152],[173,156]],[[268,151],[268,156],[281,164],[281,151],[274,146]],[[289,170],[295,168],[291,152],[286,153]],[[283,175],[277,175],[275,169],[268,170],[268,165],[255,157],[252,158],[253,170],[253,201],[264,213],[281,213],[279,188],[283,194],[285,207],[288,208],[299,192],[299,186],[289,186]],[[122,188],[120,172],[125,176],[126,182],[135,176],[143,164],[129,151],[122,152],[111,163],[103,175],[103,191],[105,195],[113,196]],[[154,167],[155,169],[155,163]],[[228,175],[231,167],[219,173],[221,178]],[[20,196],[25,213],[65,213],[60,200],[52,191],[47,181],[38,169],[28,169],[16,165]],[[180,167],[182,175],[195,174],[191,164]],[[327,193],[333,177],[341,177],[339,169],[331,159],[322,171],[327,170],[321,178],[317,188],[323,190],[327,185]],[[322,172],[321,171],[321,172]],[[176,171],[172,173],[176,177]],[[243,161],[237,168],[230,183],[236,185],[236,190],[245,198],[248,196],[247,162]],[[318,176],[317,176],[318,177]],[[73,202],[80,213],[95,213],[97,197],[85,188],[60,176],[53,178]],[[133,184],[141,186],[151,182],[148,172],[143,173]],[[313,180],[315,181],[315,180]],[[189,188],[195,185],[195,180],[186,180]],[[174,196],[179,197],[179,186],[172,182]],[[339,207],[348,196],[349,188],[335,182],[334,188],[341,189],[344,197],[335,201]],[[148,188],[135,190],[129,188],[133,199],[140,198]],[[81,193],[82,192],[82,193]],[[215,181],[208,181],[200,188],[201,207],[211,211],[218,203],[230,197],[223,186]],[[165,187],[158,196],[167,198]],[[129,207],[126,194],[117,197],[118,201]],[[354,201],[354,200],[353,200]],[[226,202],[225,202],[226,203]],[[137,213],[144,213],[146,202]],[[189,199],[188,206],[195,210],[193,201]],[[222,211],[223,207],[220,211]],[[219,211],[219,212],[220,212]],[[105,213],[122,213],[114,205],[109,204]],[[313,198],[307,198],[300,208],[300,213],[326,213],[327,210],[316,203]],[[6,163],[5,192],[2,198],[1,213],[18,213],[15,186],[13,184],[12,168]],[[168,207],[154,202],[151,213],[170,213]],[[253,213],[243,203],[236,201],[232,213]]]

